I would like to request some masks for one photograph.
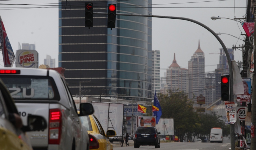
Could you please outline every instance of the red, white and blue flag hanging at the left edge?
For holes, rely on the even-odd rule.
[[[11,43],[6,34],[1,16],[0,16],[0,43],[1,43],[1,50],[3,54],[4,67],[12,67],[15,60],[15,55],[12,50]]]

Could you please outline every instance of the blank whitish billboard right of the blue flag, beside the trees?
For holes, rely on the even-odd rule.
[[[158,124],[156,125],[156,130],[160,132],[161,135],[174,135],[173,124],[173,118],[160,118]]]

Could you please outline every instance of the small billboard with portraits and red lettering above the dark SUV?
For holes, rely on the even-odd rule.
[[[156,116],[137,116],[136,128],[139,126],[156,126]]]

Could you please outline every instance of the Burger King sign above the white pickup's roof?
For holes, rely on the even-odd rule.
[[[38,68],[38,52],[20,49],[16,51],[16,67]]]

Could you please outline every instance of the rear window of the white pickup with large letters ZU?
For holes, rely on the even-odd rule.
[[[52,77],[16,75],[0,77],[15,100],[60,100]]]

